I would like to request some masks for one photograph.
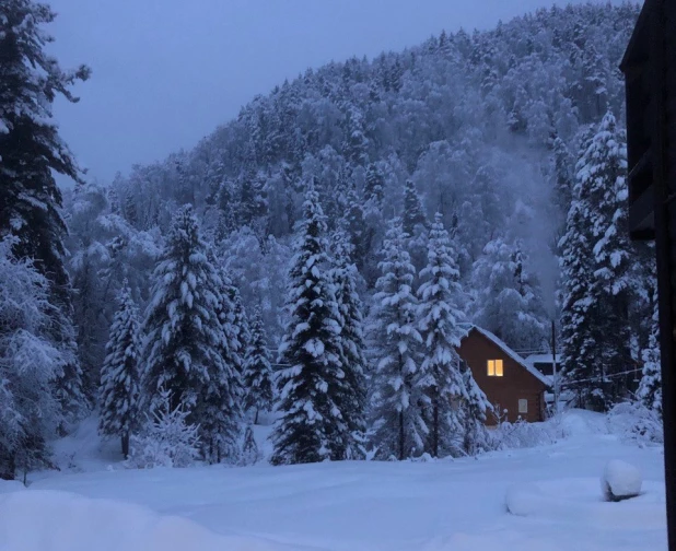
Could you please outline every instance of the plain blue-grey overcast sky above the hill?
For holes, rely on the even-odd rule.
[[[560,3],[560,2],[559,2]],[[65,68],[91,81],[60,102],[63,138],[90,176],[193,146],[284,78],[400,50],[442,28],[490,28],[551,0],[50,0]]]

